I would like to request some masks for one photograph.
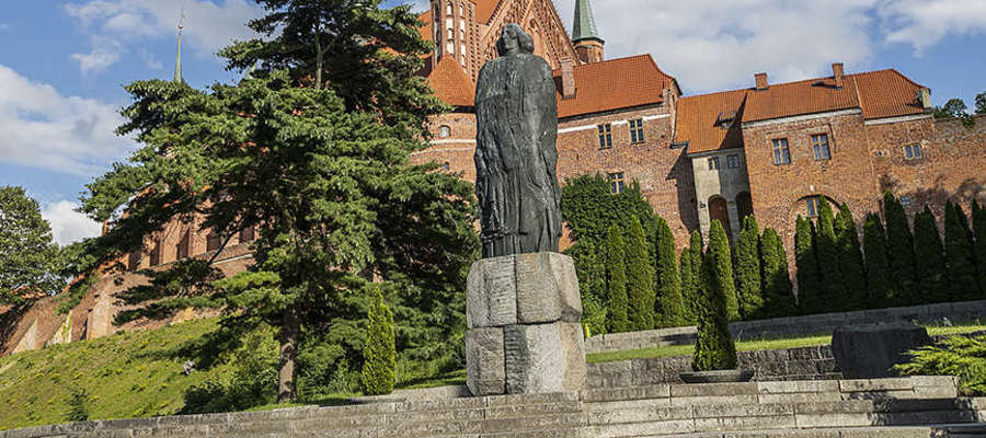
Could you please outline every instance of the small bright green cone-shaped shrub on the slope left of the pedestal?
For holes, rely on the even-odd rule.
[[[369,306],[369,325],[363,347],[363,393],[382,395],[393,392],[397,380],[397,347],[393,338],[393,313],[383,301],[379,287],[374,288]]]

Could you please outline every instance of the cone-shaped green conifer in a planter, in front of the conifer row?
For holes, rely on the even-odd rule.
[[[726,301],[727,290],[733,289],[733,278],[729,272],[723,270],[722,256],[714,247],[720,245],[720,238],[725,237],[722,224],[718,220],[712,221],[712,235],[709,238],[709,251],[702,262],[702,296],[699,300],[700,312],[698,321],[698,336],[695,343],[695,354],[691,357],[691,368],[696,371],[714,371],[734,369],[738,364],[736,344],[730,334],[729,311]],[[732,270],[732,269],[730,269]]]

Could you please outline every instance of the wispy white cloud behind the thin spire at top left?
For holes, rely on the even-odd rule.
[[[245,0],[218,4],[209,0],[85,0],[68,3],[65,10],[94,36],[93,53],[100,48],[99,38],[129,44],[174,37],[184,10],[185,42],[198,56],[213,55],[233,39],[252,36],[245,24],[263,12]]]

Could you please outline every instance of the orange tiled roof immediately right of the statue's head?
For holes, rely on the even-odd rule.
[[[678,88],[677,80],[657,68],[650,55],[610,59],[575,66],[575,96],[558,94],[558,117],[655,105],[664,102],[664,90]],[[561,70],[554,70],[561,88]]]

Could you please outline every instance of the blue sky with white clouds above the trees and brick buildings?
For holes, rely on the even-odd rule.
[[[426,0],[406,0],[425,10]],[[402,0],[386,0],[392,7]],[[575,0],[554,0],[566,27]],[[986,91],[986,0],[593,0],[607,58],[651,54],[686,95],[895,68],[973,106]],[[114,134],[123,85],[171,78],[184,11],[192,87],[231,81],[216,51],[255,35],[252,0],[4,1],[0,14],[0,185],[38,200],[57,242],[96,235],[74,211],[85,184],[137,145]]]

